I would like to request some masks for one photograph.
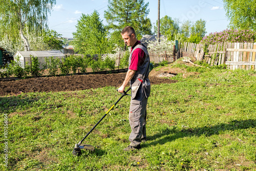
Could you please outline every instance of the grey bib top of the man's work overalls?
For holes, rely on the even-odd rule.
[[[141,66],[138,66],[134,77],[130,81],[130,85],[132,88],[132,99],[136,97],[138,90],[141,91],[141,93],[144,94],[146,98],[148,98],[148,96],[150,96],[151,89],[150,80],[148,79],[148,74],[150,73],[150,55],[148,54],[146,47],[142,43],[139,43],[133,48],[129,58],[129,68],[131,65],[133,52],[137,48],[140,48],[145,52],[146,58],[144,60],[144,63]]]

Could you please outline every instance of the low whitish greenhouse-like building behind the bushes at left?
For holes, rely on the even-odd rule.
[[[19,56],[20,65],[24,68],[26,63],[31,65],[31,57],[37,57],[39,60],[40,68],[45,64],[45,58],[50,58],[53,56],[54,59],[65,58],[65,55],[59,50],[48,50],[48,51],[17,51],[14,54],[14,60]]]

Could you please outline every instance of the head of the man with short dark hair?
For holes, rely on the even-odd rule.
[[[131,26],[126,26],[121,32],[122,39],[127,46],[133,47],[133,45],[137,42],[135,30]]]

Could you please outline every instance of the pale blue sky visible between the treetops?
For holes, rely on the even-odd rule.
[[[149,3],[150,13],[147,17],[151,19],[152,25],[156,25],[158,0],[144,2]],[[81,13],[91,14],[97,10],[105,25],[104,10],[107,9],[108,0],[56,0],[56,5],[48,16],[49,29],[56,30],[63,37],[73,37],[72,32],[76,31],[75,26]],[[196,22],[202,18],[206,21],[206,34],[225,30],[229,23],[222,0],[160,0],[160,18],[165,15],[178,18],[180,22]]]

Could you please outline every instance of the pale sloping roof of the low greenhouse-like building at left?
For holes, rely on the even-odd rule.
[[[16,55],[22,55],[25,58],[30,57],[30,55],[34,57],[51,57],[51,56],[65,56],[59,50],[48,50],[48,51],[17,51]]]

